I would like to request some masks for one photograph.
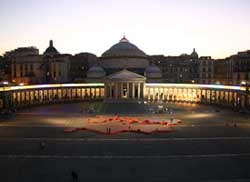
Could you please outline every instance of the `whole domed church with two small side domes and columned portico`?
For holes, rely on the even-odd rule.
[[[145,82],[161,80],[161,69],[150,65],[148,56],[124,36],[91,67],[88,81],[104,82],[105,101],[140,101],[144,97]]]

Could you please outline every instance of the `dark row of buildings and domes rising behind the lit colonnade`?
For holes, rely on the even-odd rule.
[[[62,54],[49,42],[39,54],[35,47],[6,52],[1,80],[16,84],[104,82],[126,68],[146,77],[147,83],[249,84],[250,51],[215,60],[196,50],[180,56],[147,55],[126,37],[97,57],[91,53]],[[8,64],[7,64],[8,63]]]

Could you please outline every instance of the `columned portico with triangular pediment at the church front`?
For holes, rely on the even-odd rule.
[[[105,86],[106,102],[136,102],[143,100],[146,78],[126,69],[106,77]],[[111,86],[112,85],[112,86]],[[113,92],[113,94],[112,94]]]

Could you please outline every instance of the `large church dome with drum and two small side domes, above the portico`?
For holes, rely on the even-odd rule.
[[[111,46],[101,55],[99,65],[94,65],[93,68],[89,69],[88,80],[104,79],[105,76],[123,69],[144,75],[146,78],[161,79],[162,76],[159,67],[149,64],[147,54],[124,36],[118,43]],[[102,74],[100,74],[100,70]]]

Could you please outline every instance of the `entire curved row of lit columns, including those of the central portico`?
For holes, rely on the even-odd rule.
[[[193,102],[250,109],[250,94],[246,88],[231,86],[207,88],[204,85],[185,84],[182,87],[178,84],[154,85],[133,81],[0,88],[2,108],[81,100]]]

